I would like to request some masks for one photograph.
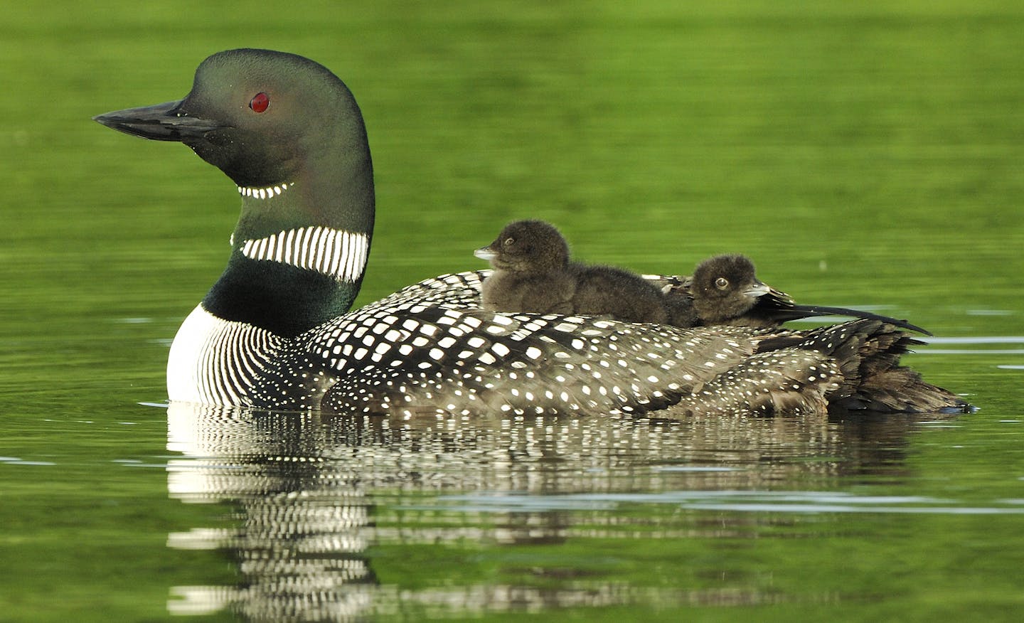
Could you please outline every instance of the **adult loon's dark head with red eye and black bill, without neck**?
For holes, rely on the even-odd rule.
[[[94,119],[135,136],[183,142],[242,188],[370,166],[362,116],[348,87],[324,66],[287,52],[218,52],[196,70],[183,99]],[[332,158],[340,162],[326,166]]]

